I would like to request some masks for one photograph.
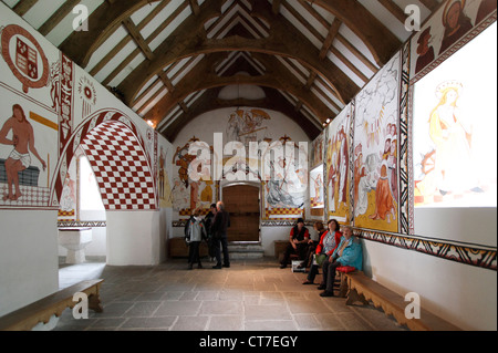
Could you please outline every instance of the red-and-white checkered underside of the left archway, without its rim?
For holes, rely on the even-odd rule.
[[[82,141],[106,210],[155,209],[154,181],[144,149],[123,123],[107,121]]]

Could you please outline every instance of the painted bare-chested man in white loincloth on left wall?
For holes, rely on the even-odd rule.
[[[7,138],[7,134],[12,129],[12,139]],[[40,160],[43,170],[46,168],[45,162],[38,154],[34,147],[33,126],[28,122],[24,111],[19,104],[12,106],[12,116],[7,120],[0,129],[0,144],[12,145],[13,149],[6,160],[7,188],[8,193],[3,200],[15,201],[22,196],[19,188],[19,172],[24,170],[31,164],[30,152]],[[15,187],[15,194],[12,193]]]

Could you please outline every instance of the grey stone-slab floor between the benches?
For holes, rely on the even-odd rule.
[[[204,266],[188,271],[185,260],[174,260],[156,267],[64,267],[65,285],[104,279],[104,312],[75,320],[68,309],[55,330],[405,331],[372,305],[321,298],[317,285],[301,284],[305,274],[279,269],[273,258],[234,260],[222,270]]]

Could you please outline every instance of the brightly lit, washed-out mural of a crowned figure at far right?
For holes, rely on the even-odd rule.
[[[495,23],[414,85],[415,207],[496,207],[496,40]]]

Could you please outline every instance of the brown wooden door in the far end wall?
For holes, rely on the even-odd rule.
[[[236,185],[224,188],[225,209],[230,214],[228,241],[260,241],[259,188]]]

